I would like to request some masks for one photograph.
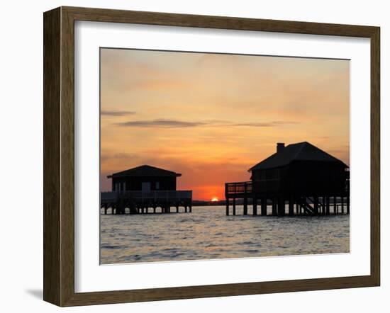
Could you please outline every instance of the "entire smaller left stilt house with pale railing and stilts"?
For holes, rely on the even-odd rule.
[[[112,191],[101,192],[100,207],[107,214],[191,212],[192,190],[176,190],[180,173],[143,165],[107,176],[112,179]]]

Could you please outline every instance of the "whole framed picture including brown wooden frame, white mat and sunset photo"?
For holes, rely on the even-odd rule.
[[[44,300],[377,286],[379,28],[44,14]]]

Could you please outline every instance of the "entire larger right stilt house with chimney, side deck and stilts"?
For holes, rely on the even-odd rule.
[[[286,201],[289,215],[303,212],[309,215],[349,212],[348,166],[339,159],[309,142],[284,146],[277,144],[277,152],[252,166],[251,181],[225,184],[226,213],[229,199],[243,198],[244,215],[247,199],[252,199],[253,213],[257,215],[257,200],[261,201],[262,215],[267,215],[267,203],[272,203],[272,215],[284,215]],[[332,201],[330,200],[332,198]],[[339,204],[340,201],[340,204]]]

